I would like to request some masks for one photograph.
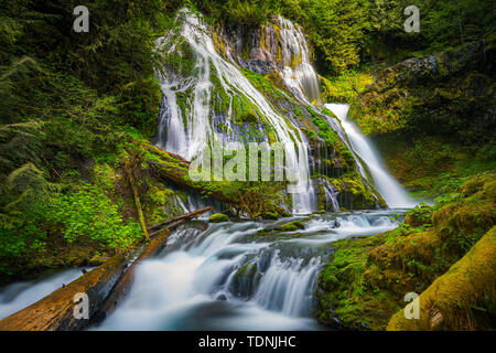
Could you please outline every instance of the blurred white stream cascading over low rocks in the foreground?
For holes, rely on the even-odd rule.
[[[121,307],[94,329],[325,329],[312,313],[330,244],[392,229],[390,214],[319,215],[304,222],[305,229],[268,235],[257,232],[281,221],[179,229],[162,254],[139,265]]]

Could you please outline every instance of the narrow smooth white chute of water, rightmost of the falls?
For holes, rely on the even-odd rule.
[[[393,208],[413,207],[417,203],[407,194],[398,181],[388,173],[370,141],[348,120],[349,106],[346,104],[325,104],[324,106],[341,120],[353,150],[367,164],[374,184],[388,206]]]

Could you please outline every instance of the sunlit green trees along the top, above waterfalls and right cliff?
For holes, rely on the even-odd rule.
[[[369,63],[391,63],[495,35],[496,6],[477,0],[191,0],[212,21],[257,25],[281,14],[303,26],[321,73],[342,74]],[[176,1],[181,6],[182,1]],[[420,10],[420,32],[407,33],[409,6]]]

